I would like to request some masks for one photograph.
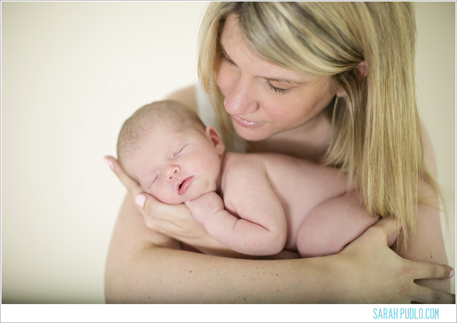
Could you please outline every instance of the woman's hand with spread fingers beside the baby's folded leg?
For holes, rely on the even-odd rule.
[[[454,271],[447,265],[404,259],[387,247],[397,223],[383,219],[350,243],[338,261],[348,303],[455,304],[456,295],[417,285],[416,279],[447,279]],[[367,274],[368,273],[368,274]],[[354,280],[355,279],[355,280]],[[338,297],[338,295],[335,295]],[[343,296],[343,295],[339,295]],[[342,298],[340,298],[342,299]]]

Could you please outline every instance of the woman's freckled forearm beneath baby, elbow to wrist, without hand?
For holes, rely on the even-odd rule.
[[[297,263],[299,261],[243,260],[148,248],[122,264],[121,271],[116,273],[122,279],[110,280],[113,285],[106,289],[106,302],[335,302],[332,293],[324,293],[321,286],[313,286],[325,279],[328,267],[323,265],[324,261],[307,261],[306,272]],[[307,278],[298,279],[297,275]]]

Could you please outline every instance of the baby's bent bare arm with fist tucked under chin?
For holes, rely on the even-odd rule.
[[[224,195],[241,219],[225,210],[215,192],[186,204],[195,220],[230,249],[246,255],[276,255],[287,238],[282,205],[264,170],[246,164],[235,168],[226,176],[230,184],[226,185]]]

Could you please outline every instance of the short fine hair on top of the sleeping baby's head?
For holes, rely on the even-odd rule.
[[[117,156],[121,167],[131,154],[139,151],[146,137],[157,125],[165,124],[175,131],[205,131],[203,122],[188,106],[172,100],[146,104],[125,120],[119,132]]]

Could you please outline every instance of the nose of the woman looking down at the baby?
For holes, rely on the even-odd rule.
[[[257,111],[259,102],[253,80],[240,76],[233,80],[224,99],[224,107],[231,115],[245,115]]]

